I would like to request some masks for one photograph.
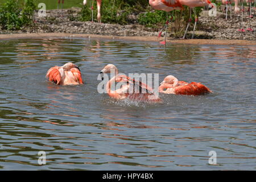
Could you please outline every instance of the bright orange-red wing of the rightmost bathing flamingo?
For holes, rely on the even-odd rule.
[[[204,86],[201,83],[197,82],[191,82],[190,84],[184,85],[184,86],[177,86],[174,89],[175,94],[180,94],[180,95],[193,95],[193,96],[198,96],[198,95],[203,95],[205,93],[210,93],[210,89],[207,88],[207,86]]]

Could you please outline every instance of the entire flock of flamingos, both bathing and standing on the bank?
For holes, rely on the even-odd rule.
[[[228,12],[228,5],[230,5],[231,0],[222,0],[222,3],[226,5],[226,13]],[[235,3],[235,12],[238,13],[240,12],[240,8],[238,7],[239,1],[242,2],[242,0],[233,0]],[[246,2],[249,2],[249,7],[251,8],[251,0],[246,0]],[[60,0],[59,0],[60,3]],[[62,1],[64,3],[64,0]],[[202,6],[207,6],[211,2],[209,0],[149,0],[150,5],[156,9],[156,10],[163,10],[163,11],[172,11],[172,10],[182,10],[183,5],[188,6],[190,8],[190,19],[189,22],[191,22],[191,10],[194,7],[202,7]],[[255,2],[254,2],[255,3]],[[84,5],[86,5],[86,0],[84,0]],[[242,5],[243,7],[243,5]],[[101,13],[100,13],[100,8],[101,8],[101,0],[97,0],[97,8],[98,8],[98,14],[97,14],[97,19],[98,22],[101,22]],[[229,7],[230,10],[230,7]],[[250,14],[251,18],[251,14]],[[196,22],[198,21],[197,15],[196,15]],[[185,30],[185,34],[188,30],[189,27],[189,22],[188,26]],[[196,26],[195,22],[195,26]],[[166,23],[166,30],[168,26],[168,20]],[[195,27],[194,27],[195,30]],[[185,37],[184,34],[184,37]],[[192,35],[193,38],[193,35]],[[166,38],[164,38],[164,44],[165,44]],[[144,84],[141,81],[135,81],[134,79],[131,79],[125,75],[119,75],[118,74],[118,69],[115,67],[113,64],[108,64],[102,69],[100,73],[110,73],[110,70],[114,70],[115,76],[111,78],[108,83],[106,84],[106,92],[109,94],[110,97],[115,98],[117,100],[123,100],[123,99],[132,99],[132,100],[143,100],[143,101],[161,101],[158,96],[153,92],[153,89],[148,86],[147,84]],[[48,70],[46,74],[46,78],[48,78],[49,81],[54,82],[57,85],[78,85],[78,84],[84,84],[82,81],[82,76],[81,76],[81,71],[79,67],[77,67],[73,63],[66,63],[61,67],[55,66],[52,67]],[[103,79],[103,78],[102,78]],[[110,89],[111,86],[115,82],[123,82],[124,84],[122,85],[121,88],[112,90]],[[130,92],[129,88],[131,86],[138,86],[138,90],[134,90]],[[146,90],[146,92],[142,92],[142,89]],[[127,92],[129,90],[129,92]],[[197,96],[197,95],[202,95],[206,93],[211,93],[212,91],[207,88],[207,86],[199,83],[199,82],[191,82],[187,83],[185,81],[179,81],[177,80],[176,77],[169,75],[164,80],[160,83],[158,91],[160,93],[165,93],[165,94],[182,94],[182,95],[192,95],[192,96]]]

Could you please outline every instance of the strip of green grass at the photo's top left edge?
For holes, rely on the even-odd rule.
[[[0,6],[2,5],[2,3],[5,3],[6,1],[7,0],[0,0]],[[58,0],[34,0],[36,9],[39,9],[38,4],[41,2],[46,4],[46,10],[57,9]],[[62,0],[60,1],[60,9],[61,2]],[[18,0],[18,3],[21,5],[22,3],[24,3],[24,0]],[[63,9],[68,9],[71,7],[82,7],[82,0],[64,0]]]

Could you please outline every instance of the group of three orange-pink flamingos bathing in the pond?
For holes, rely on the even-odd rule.
[[[113,64],[106,65],[100,73],[110,73],[114,71],[115,75],[106,84],[106,92],[110,97],[117,100],[129,99],[138,101],[161,101],[154,93],[154,90],[141,81],[135,81],[125,75],[118,74],[118,69]],[[48,70],[46,78],[54,82],[56,85],[79,85],[84,84],[82,81],[81,71],[77,65],[73,63],[66,63],[61,67],[55,66]],[[103,77],[102,77],[103,80]],[[121,88],[112,90],[112,84],[115,82],[122,82]],[[135,90],[135,87],[139,90]],[[133,89],[129,89],[132,87]],[[143,89],[145,92],[143,92]],[[188,84],[185,81],[178,81],[176,77],[169,75],[160,83],[158,91],[166,94],[181,94],[181,95],[202,95],[210,93],[209,88],[199,82],[191,82]]]

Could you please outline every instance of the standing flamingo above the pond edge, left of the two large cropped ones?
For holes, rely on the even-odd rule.
[[[181,9],[183,9],[183,7],[181,6],[181,4],[179,3],[178,0],[150,0],[149,3],[150,3],[150,6],[152,8],[154,8],[155,10],[163,10],[163,11],[166,11],[166,12],[170,12],[172,10],[181,10]],[[170,20],[172,20],[172,18],[173,17],[171,16]],[[169,24],[169,19],[168,19],[168,16],[167,16],[166,24],[163,27],[163,29],[160,31],[158,37],[161,36],[164,28],[166,28],[166,34],[167,34],[168,24]],[[166,44],[166,34],[164,35],[164,41],[160,42],[161,44]]]

